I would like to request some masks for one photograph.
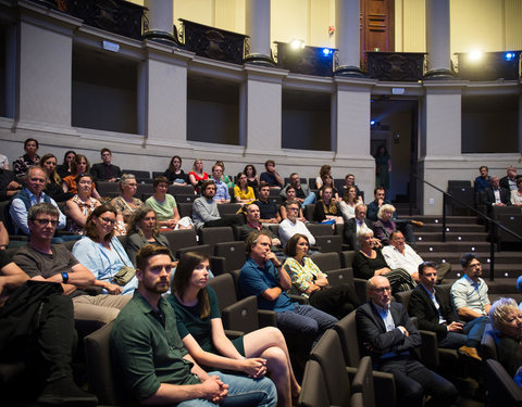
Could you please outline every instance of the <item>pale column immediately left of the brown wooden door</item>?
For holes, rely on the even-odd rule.
[[[335,46],[339,50],[339,75],[362,75],[360,68],[359,0],[335,1]]]

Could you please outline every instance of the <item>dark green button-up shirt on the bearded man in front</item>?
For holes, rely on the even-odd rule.
[[[197,384],[190,372],[194,364],[176,329],[174,309],[166,300],[158,303],[164,315],[164,328],[158,314],[138,291],[120,311],[111,330],[111,357],[116,377],[136,400],[149,398],[161,383]]]

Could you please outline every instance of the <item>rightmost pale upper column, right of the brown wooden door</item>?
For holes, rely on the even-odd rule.
[[[450,65],[449,0],[426,0],[426,77],[452,77]]]

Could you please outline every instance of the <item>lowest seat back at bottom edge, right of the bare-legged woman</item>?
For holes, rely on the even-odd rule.
[[[297,405],[299,407],[330,407],[324,374],[316,360],[307,361]]]

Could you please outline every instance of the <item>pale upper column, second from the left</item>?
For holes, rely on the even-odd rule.
[[[250,50],[246,61],[274,65],[270,48],[270,0],[247,0],[246,34]]]

